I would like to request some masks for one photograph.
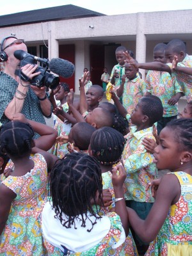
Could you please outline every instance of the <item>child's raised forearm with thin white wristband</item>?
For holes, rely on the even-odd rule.
[[[124,199],[124,181],[127,177],[124,166],[118,164],[112,170],[112,183],[115,192],[115,212],[120,216],[126,236],[129,234],[129,221]]]

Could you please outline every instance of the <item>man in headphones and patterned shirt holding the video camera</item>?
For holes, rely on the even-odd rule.
[[[20,68],[20,60],[13,53],[17,50],[28,51],[24,40],[8,36],[1,42],[1,60],[4,72],[0,72],[0,122],[2,124],[13,119],[15,113],[22,113],[26,118],[45,124],[44,116],[51,117],[51,102],[47,99],[46,87],[38,88],[15,75]],[[38,65],[27,64],[22,73],[32,79],[40,74],[35,72]]]

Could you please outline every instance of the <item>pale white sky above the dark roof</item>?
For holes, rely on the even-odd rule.
[[[3,1],[3,4],[1,4],[0,15],[65,4],[74,4],[106,15],[161,12],[166,10],[192,10],[191,0],[9,0]]]

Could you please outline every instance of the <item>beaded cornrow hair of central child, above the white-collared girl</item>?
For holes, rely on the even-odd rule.
[[[125,142],[122,133],[111,127],[102,127],[93,132],[90,148],[100,164],[112,166],[120,160]]]

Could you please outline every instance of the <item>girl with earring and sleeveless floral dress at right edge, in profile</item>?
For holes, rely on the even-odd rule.
[[[146,220],[128,209],[132,228],[150,242],[149,255],[192,255],[192,120],[177,119],[169,122],[159,134],[155,149],[158,170],[168,169],[161,178],[156,200]]]

